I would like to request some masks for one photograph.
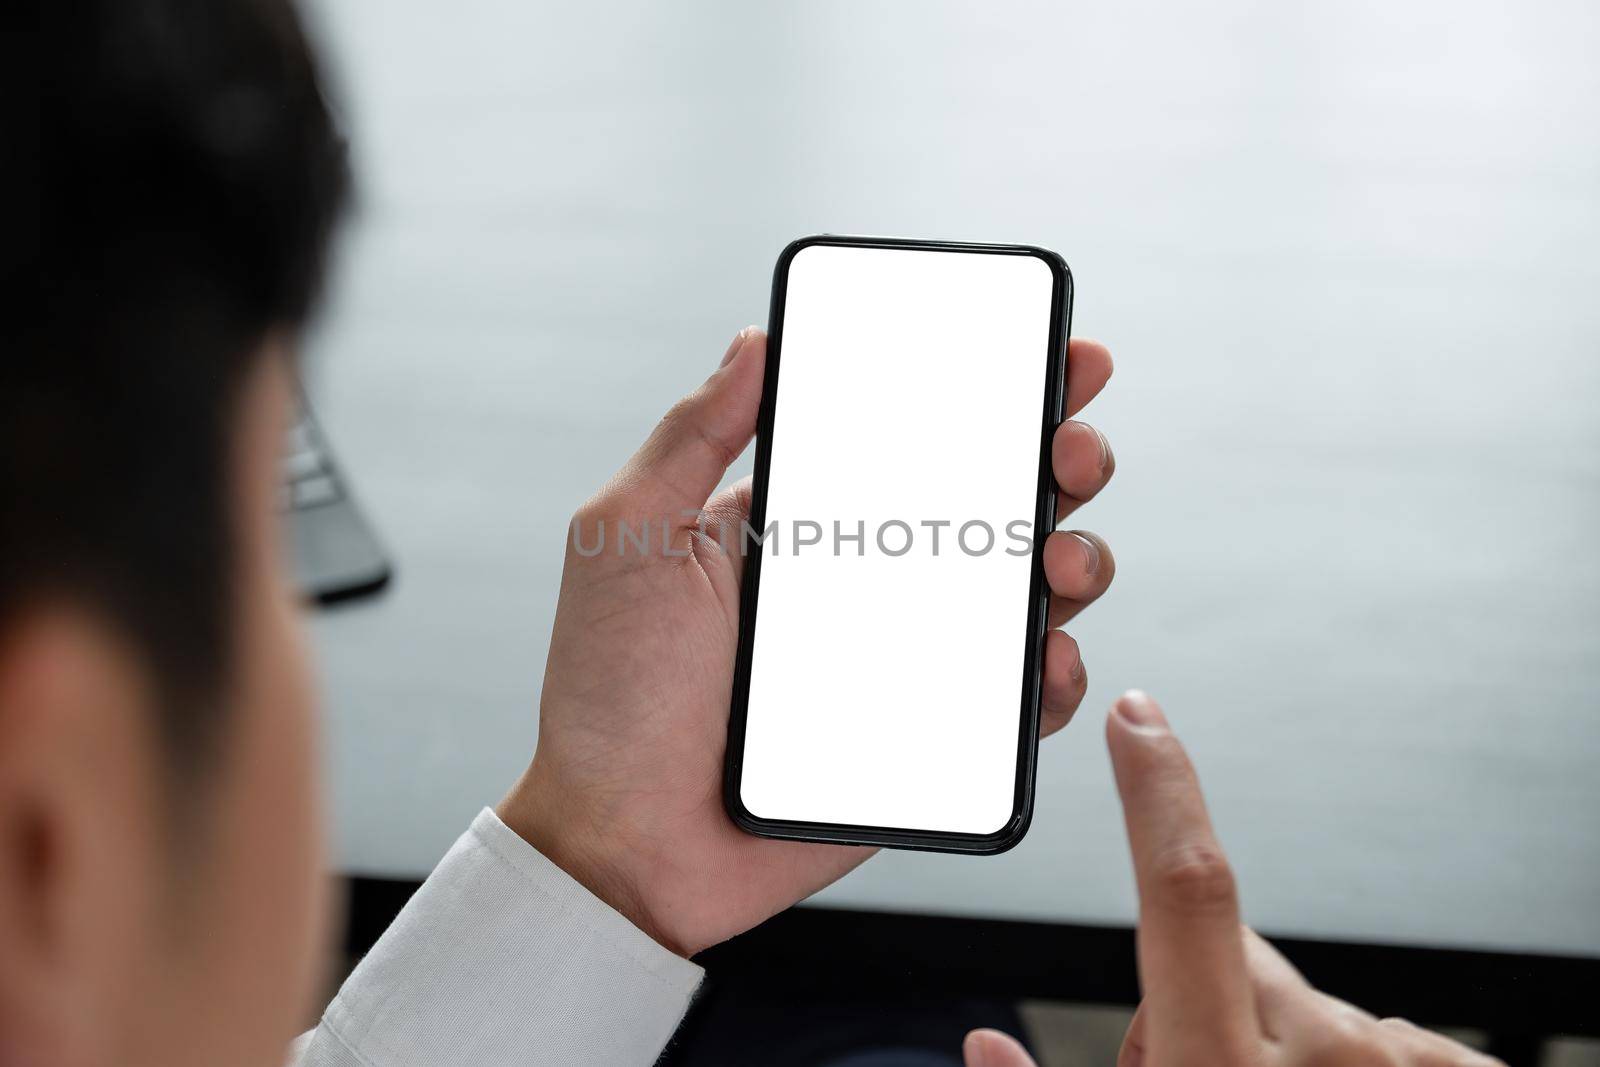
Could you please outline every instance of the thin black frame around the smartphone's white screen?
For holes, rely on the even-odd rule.
[[[782,358],[784,298],[789,290],[789,264],[805,248],[818,245],[846,248],[893,248],[914,251],[986,253],[997,256],[1030,256],[1043,261],[1051,272],[1050,344],[1043,414],[1038,435],[1038,493],[1034,515],[1032,577],[1029,581],[1027,645],[1022,661],[1022,707],[1018,723],[1016,800],[1011,817],[994,833],[944,833],[904,827],[851,825],[842,822],[795,822],[763,819],[750,813],[741,798],[744,773],[744,728],[750,697],[750,657],[755,648],[755,617],[762,585],[765,545],[747,545],[739,539],[730,550],[744,550],[744,582],[739,590],[739,648],[733,670],[733,702],[728,713],[728,747],[723,758],[723,805],[739,829],[758,837],[822,841],[830,845],[874,845],[933,853],[968,853],[992,856],[1022,840],[1034,819],[1034,789],[1038,760],[1038,701],[1048,629],[1050,587],[1045,582],[1045,539],[1056,526],[1056,482],[1051,472],[1051,445],[1062,421],[1067,379],[1067,339],[1072,334],[1072,270],[1066,261],[1035,245],[987,245],[970,242],[910,240],[899,237],[842,237],[821,234],[790,242],[778,256],[773,270],[773,302],[766,338],[766,378],[755,430],[755,475],[750,488],[750,528],[766,530],[766,486],[771,464],[773,424],[778,405],[778,373]]]

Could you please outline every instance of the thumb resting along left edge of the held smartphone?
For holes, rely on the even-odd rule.
[[[766,334],[746,326],[706,382],[656,424],[605,496],[622,510],[688,525],[755,435],[766,373]]]

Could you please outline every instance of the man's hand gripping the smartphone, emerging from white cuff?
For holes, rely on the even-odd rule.
[[[1110,378],[1091,341],[1067,352],[1067,413]],[[774,841],[741,832],[722,806],[722,763],[739,632],[738,531],[750,483],[722,493],[728,466],[755,435],[766,336],[734,338],[722,366],[678,402],[650,440],[576,517],[568,542],[533,765],[499,816],[550,861],[662,945],[683,955],[781,912],[872,854],[869,848]],[[1106,438],[1066,422],[1054,440],[1058,515],[1093,498],[1112,474]],[[885,472],[891,475],[891,472]],[[694,512],[704,512],[696,522]],[[662,520],[669,552],[662,552]],[[650,549],[618,553],[616,523],[651,526]],[[600,526],[606,545],[594,553]],[[1110,582],[1112,555],[1093,534],[1054,533],[1045,545],[1061,625]],[[1077,643],[1045,643],[1042,733],[1083,699]]]

